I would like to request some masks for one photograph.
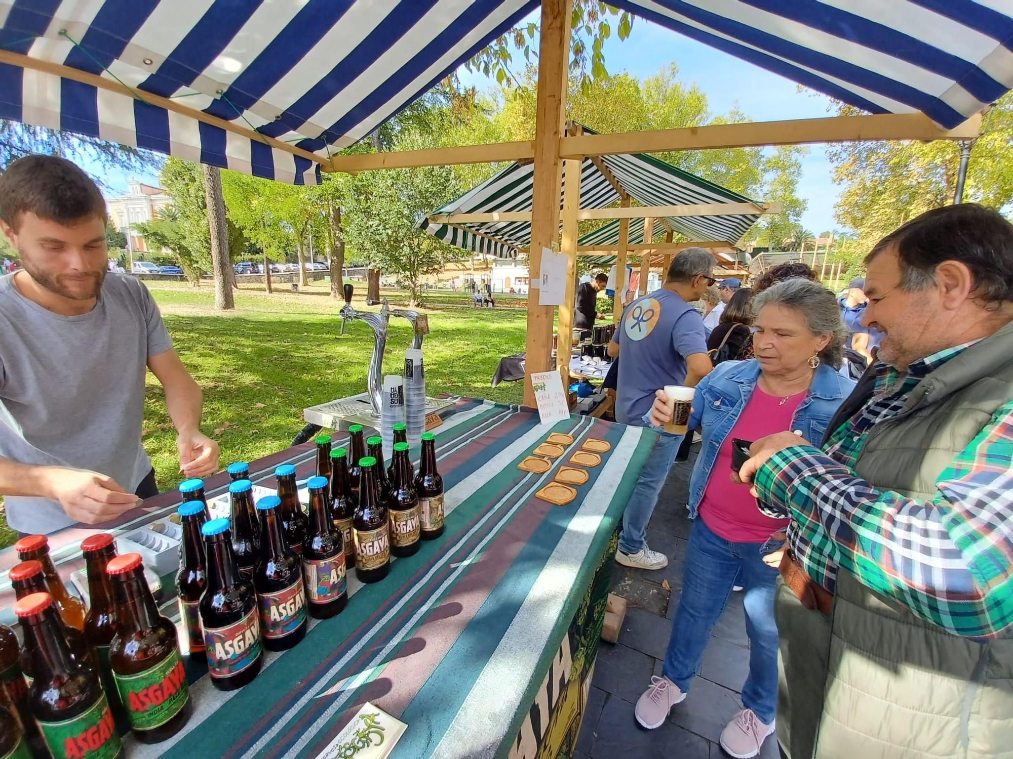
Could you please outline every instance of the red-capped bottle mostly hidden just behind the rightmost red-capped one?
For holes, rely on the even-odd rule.
[[[202,505],[203,504],[199,504]],[[116,610],[112,603],[112,580],[105,573],[105,566],[116,556],[112,535],[99,532],[81,541],[84,566],[88,574],[88,613],[84,617],[84,638],[98,661],[98,678],[101,680],[105,698],[112,709],[116,728],[121,732],[130,730],[130,720],[116,690],[116,681],[109,665],[109,646],[116,631]]]

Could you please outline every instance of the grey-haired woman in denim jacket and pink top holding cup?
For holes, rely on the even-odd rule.
[[[836,371],[846,330],[834,293],[819,282],[788,279],[759,293],[753,309],[755,357],[725,361],[697,385],[689,428],[701,428],[703,443],[690,479],[689,509],[691,517],[700,518],[693,522],[686,550],[661,676],[651,678],[635,710],[640,725],[657,728],[686,697],[711,627],[738,577],[745,586],[750,673],[742,691],[744,708],[721,733],[721,747],[733,757],[756,756],[774,732],[778,573],[764,557],[781,549],[788,524],[787,518],[762,512],[749,487],[731,481],[733,441],[785,429],[820,440],[854,386]],[[650,421],[660,426],[670,419],[665,393],[658,391]]]

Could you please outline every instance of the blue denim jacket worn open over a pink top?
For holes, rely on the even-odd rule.
[[[689,428],[703,434],[700,454],[690,477],[690,517],[696,516],[717,451],[734,426],[746,402],[756,388],[760,364],[748,361],[724,361],[714,367],[696,387]],[[832,366],[820,364],[805,398],[791,417],[791,431],[819,445],[834,412],[855,387],[853,380],[841,376]],[[780,432],[772,429],[768,434]],[[724,473],[724,476],[730,473]]]

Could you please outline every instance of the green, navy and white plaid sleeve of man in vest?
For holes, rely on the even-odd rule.
[[[1013,401],[940,474],[927,502],[876,490],[808,446],[772,456],[756,486],[791,509],[803,534],[832,543],[821,551],[814,540],[799,557],[814,579],[823,553],[955,635],[992,638],[1013,623]]]

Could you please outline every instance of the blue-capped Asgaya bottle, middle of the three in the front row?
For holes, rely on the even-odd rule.
[[[309,625],[302,568],[282,528],[282,499],[265,496],[257,501],[256,510],[260,514],[260,553],[253,588],[260,609],[260,634],[267,651],[285,651],[306,637]]]

